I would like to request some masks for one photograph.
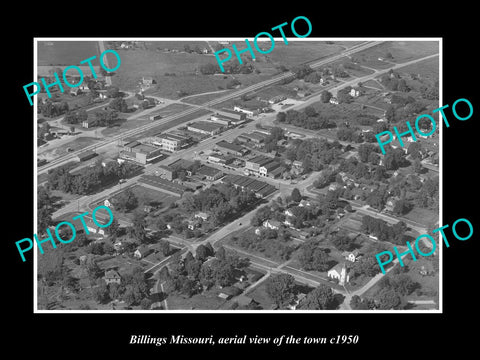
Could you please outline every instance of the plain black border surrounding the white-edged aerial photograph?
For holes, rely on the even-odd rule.
[[[52,9],[45,9],[48,11],[34,13],[31,19],[25,15],[20,35],[10,37],[12,31],[5,32],[10,37],[7,46],[16,55],[9,59],[11,71],[6,74],[8,85],[4,85],[7,90],[4,106],[8,108],[8,115],[4,115],[4,124],[7,126],[4,139],[8,144],[3,159],[7,179],[5,189],[14,189],[4,196],[8,211],[4,225],[6,251],[3,258],[10,264],[4,272],[4,278],[7,279],[4,284],[4,297],[7,299],[4,312],[15,314],[9,321],[9,326],[13,328],[8,331],[8,345],[28,344],[29,348],[45,351],[49,356],[53,356],[54,352],[60,355],[64,349],[71,351],[77,348],[87,356],[90,353],[88,350],[93,350],[91,354],[100,351],[102,354],[115,355],[143,355],[147,352],[180,354],[192,350],[200,354],[226,350],[230,354],[250,352],[254,356],[259,351],[297,354],[300,350],[310,350],[314,356],[330,351],[354,356],[365,351],[386,356],[401,351],[403,356],[409,356],[413,355],[412,348],[415,354],[432,354],[435,349],[448,348],[453,344],[464,351],[474,346],[474,330],[465,326],[469,319],[473,320],[476,310],[474,291],[477,272],[474,265],[479,230],[474,232],[470,240],[453,240],[450,241],[450,248],[444,248],[443,314],[33,314],[33,258],[22,263],[14,241],[25,237],[25,234],[33,234],[33,127],[28,125],[33,120],[33,107],[29,107],[25,100],[22,86],[33,78],[34,37],[251,37],[285,21],[290,22],[299,15],[307,16],[312,22],[310,37],[442,37],[443,103],[452,104],[458,98],[467,98],[475,109],[470,120],[453,120],[450,128],[444,128],[443,223],[452,224],[463,217],[469,219],[475,229],[478,228],[478,215],[473,207],[469,208],[475,201],[476,193],[477,161],[473,145],[476,137],[476,107],[480,104],[474,92],[477,86],[474,83],[477,59],[473,7],[452,6],[448,11],[433,8],[423,11],[417,5],[384,3],[376,12],[370,3],[357,4],[362,8],[361,11],[340,3],[318,3],[315,8],[306,3],[278,3],[272,4],[269,11],[260,12],[258,4],[254,3],[231,3],[219,7],[198,4],[198,10],[187,3],[178,9],[127,4],[115,10],[98,4],[95,5],[95,11],[80,15],[80,8],[84,5],[79,5],[75,11],[62,7],[59,13],[54,11],[54,14],[51,13]],[[87,12],[88,5],[85,6]],[[135,7],[129,9],[130,6]],[[65,12],[69,15],[66,16]],[[54,26],[54,19],[59,16],[65,20],[71,16],[75,21]],[[39,22],[41,19],[45,21]],[[359,335],[360,341],[355,346],[343,347],[128,345],[130,335],[135,334],[149,334],[152,337],[169,337],[172,334],[258,334],[268,337],[282,334],[311,337],[352,334]],[[64,356],[68,356],[68,353]]]

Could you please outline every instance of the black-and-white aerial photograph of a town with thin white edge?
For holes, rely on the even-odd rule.
[[[301,40],[35,39],[36,310],[441,308],[440,40]]]

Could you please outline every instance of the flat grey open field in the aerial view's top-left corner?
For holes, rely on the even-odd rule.
[[[100,55],[97,41],[39,41],[37,46],[39,66],[75,65]]]

